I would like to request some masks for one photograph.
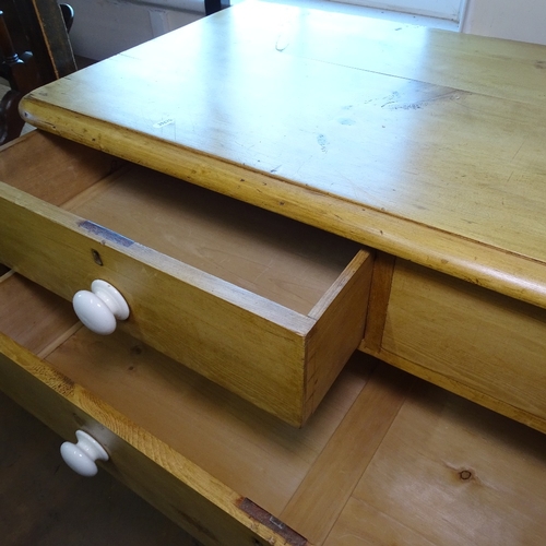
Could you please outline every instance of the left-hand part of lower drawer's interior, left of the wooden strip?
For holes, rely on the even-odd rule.
[[[295,429],[127,333],[93,334],[67,301],[24,277],[0,283],[0,300],[2,334],[275,518],[286,515],[375,366],[358,354],[321,408]]]

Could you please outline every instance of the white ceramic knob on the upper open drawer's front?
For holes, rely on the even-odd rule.
[[[76,292],[72,305],[78,318],[96,334],[111,334],[116,330],[116,319],[129,317],[123,296],[106,281],[93,281],[91,292]]]

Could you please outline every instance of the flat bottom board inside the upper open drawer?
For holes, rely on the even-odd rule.
[[[359,248],[136,165],[96,182],[63,207],[302,314]]]

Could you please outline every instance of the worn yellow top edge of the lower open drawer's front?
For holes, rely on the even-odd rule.
[[[33,380],[39,382],[44,389],[50,390],[55,395],[60,396],[68,404],[91,418],[92,422],[97,423],[109,435],[114,435],[114,440],[110,439],[110,442],[106,441],[105,443],[106,450],[110,455],[114,455],[114,459],[115,448],[112,449],[108,443],[115,443],[115,438],[119,438],[141,453],[142,456],[173,475],[183,486],[194,491],[195,495],[224,512],[227,518],[235,520],[250,533],[254,533],[257,537],[266,542],[271,539],[275,541],[275,538],[281,539],[281,536],[273,530],[253,519],[239,507],[242,496],[216,479],[193,461],[169,448],[168,444],[154,437],[146,429],[124,417],[109,404],[98,403],[95,396],[85,388],[79,383],[74,383],[64,375],[55,370],[48,363],[40,360],[34,353],[0,332],[0,373],[5,366],[5,363],[2,364],[2,360],[7,360],[8,365],[15,366],[23,373],[27,373]],[[27,408],[25,407],[25,410]],[[31,413],[33,412],[31,411]],[[41,416],[36,415],[36,417],[41,420]],[[111,426],[112,423],[122,423],[123,426],[119,426],[116,429]],[[48,423],[46,425],[49,426]],[[128,432],[123,434],[123,428],[135,430],[135,434],[132,436]],[[138,441],[134,441],[133,438],[136,438]],[[100,438],[98,440],[103,442]],[[143,446],[151,446],[152,448],[143,450]],[[154,456],[154,452],[156,451],[161,451],[162,454]],[[166,453],[168,453],[168,458],[165,456]],[[169,461],[170,464],[163,464],[165,461]],[[106,464],[112,463],[109,462]]]

